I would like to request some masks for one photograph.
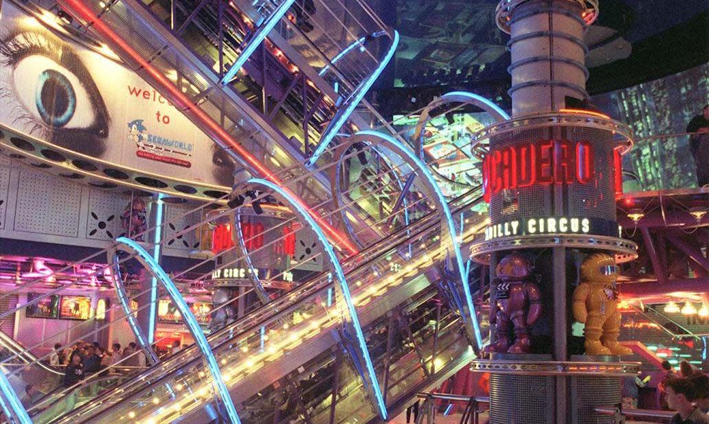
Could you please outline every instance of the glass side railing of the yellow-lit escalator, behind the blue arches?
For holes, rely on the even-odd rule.
[[[476,202],[479,199],[462,202],[454,210],[465,210]],[[358,309],[366,309],[368,304],[386,297],[405,282],[425,278],[420,273],[442,258],[445,248],[440,246],[440,222],[435,218],[421,219],[408,231],[400,231],[398,236],[395,234],[384,243],[364,250],[356,260],[345,261],[347,280]],[[464,234],[464,239],[470,236]],[[411,257],[408,248],[404,248],[410,244],[415,245]],[[210,336],[214,355],[225,366],[223,377],[227,385],[237,385],[301,343],[339,325],[337,302],[328,304],[328,290],[332,287],[330,277],[323,273],[274,304]],[[185,362],[186,358],[189,362]],[[186,349],[59,422],[87,417],[112,420],[127,413],[144,419],[172,420],[213,399],[211,387],[211,377],[201,357],[194,348]]]

